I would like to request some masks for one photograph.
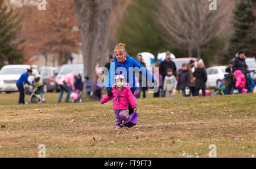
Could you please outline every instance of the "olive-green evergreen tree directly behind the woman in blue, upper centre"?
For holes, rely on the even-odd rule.
[[[154,11],[159,6],[155,0],[133,0],[118,28],[118,41],[125,43],[127,52],[136,56],[139,52],[150,52],[157,56],[164,42],[154,20]]]

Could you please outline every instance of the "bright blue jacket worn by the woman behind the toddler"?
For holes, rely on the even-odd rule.
[[[146,77],[148,81],[155,82],[154,77],[152,74],[143,67],[137,60],[135,60],[133,57],[130,57],[129,54],[126,54],[127,59],[126,61],[121,64],[119,63],[114,56],[114,61],[112,62],[109,70],[109,76],[106,82],[106,88],[112,87],[112,85],[115,83],[115,74],[124,74],[125,82],[130,84],[130,87],[137,88],[137,82],[135,81],[135,74],[134,74],[134,68],[137,69],[136,71],[139,71],[140,74]],[[129,71],[130,67],[130,71]],[[131,81],[131,80],[132,81]]]

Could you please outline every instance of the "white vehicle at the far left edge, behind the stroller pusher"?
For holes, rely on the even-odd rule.
[[[7,65],[0,70],[0,91],[18,91],[16,81],[20,75],[25,73],[30,65]]]

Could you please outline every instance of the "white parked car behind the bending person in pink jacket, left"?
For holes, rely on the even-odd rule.
[[[59,74],[55,78],[56,86],[58,86],[57,83],[60,78],[62,78],[65,74],[72,73],[72,71],[76,71],[77,73],[79,71],[84,72],[84,64],[67,64],[61,66]],[[59,87],[57,87],[57,91],[59,91]]]

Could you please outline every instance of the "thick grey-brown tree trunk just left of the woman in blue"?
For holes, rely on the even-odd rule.
[[[108,60],[107,32],[112,0],[75,0],[75,7],[82,41],[84,75],[93,82],[98,58],[101,58],[101,63]]]

